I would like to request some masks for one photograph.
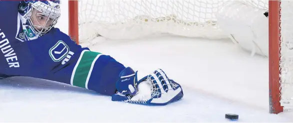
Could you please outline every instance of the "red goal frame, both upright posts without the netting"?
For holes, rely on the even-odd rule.
[[[283,112],[281,106],[281,0],[268,1],[269,20],[269,113]],[[78,0],[68,0],[69,36],[79,44],[78,38]]]

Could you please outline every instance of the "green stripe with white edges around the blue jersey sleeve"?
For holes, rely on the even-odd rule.
[[[98,52],[82,51],[73,69],[70,84],[87,88],[93,65],[101,54]]]

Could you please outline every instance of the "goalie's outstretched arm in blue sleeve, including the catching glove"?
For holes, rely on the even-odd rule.
[[[81,48],[58,29],[53,29],[40,39],[43,41],[31,41],[29,49],[35,61],[39,62],[36,65],[40,65],[37,67],[41,68],[43,79],[112,96],[112,101],[134,104],[166,105],[183,97],[180,85],[169,80],[162,70],[138,81],[137,71],[125,68],[108,55]],[[35,73],[38,74],[38,71]],[[146,87],[149,89],[146,97],[137,93],[137,85],[142,81],[150,84]]]

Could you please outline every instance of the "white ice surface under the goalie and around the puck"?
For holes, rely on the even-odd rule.
[[[97,38],[94,51],[138,70],[163,69],[184,97],[167,106],[112,102],[70,85],[28,77],[0,80],[0,122],[293,122],[292,112],[268,113],[268,59],[249,56],[230,41],[148,37]]]

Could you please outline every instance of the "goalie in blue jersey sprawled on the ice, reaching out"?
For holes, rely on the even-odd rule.
[[[135,104],[166,105],[183,97],[181,86],[161,69],[138,80],[137,71],[75,44],[54,28],[60,16],[59,3],[0,0],[1,78],[52,80],[111,96],[112,101]],[[146,84],[149,93],[139,93],[138,84]]]

